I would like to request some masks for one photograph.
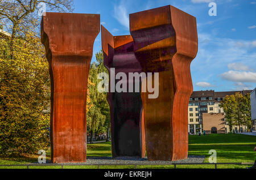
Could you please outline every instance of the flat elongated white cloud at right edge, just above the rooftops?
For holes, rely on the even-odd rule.
[[[256,72],[228,71],[221,74],[221,78],[231,82],[256,83]]]

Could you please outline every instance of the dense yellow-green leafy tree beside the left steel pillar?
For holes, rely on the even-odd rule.
[[[36,153],[49,146],[50,82],[44,47],[34,31],[0,51],[0,154]],[[5,45],[2,45],[3,44]]]

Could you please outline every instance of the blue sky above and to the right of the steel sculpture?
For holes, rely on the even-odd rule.
[[[217,16],[209,16],[209,2]],[[196,17],[199,49],[191,63],[194,91],[256,87],[256,0],[74,0],[76,13],[100,14],[114,36],[129,35],[129,14],[172,5]],[[94,54],[101,49],[101,33]],[[92,61],[95,60],[93,55]]]

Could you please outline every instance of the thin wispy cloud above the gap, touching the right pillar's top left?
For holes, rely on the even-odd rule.
[[[120,5],[114,5],[114,18],[118,20],[120,24],[129,30],[129,15],[127,14],[126,8],[121,3]]]

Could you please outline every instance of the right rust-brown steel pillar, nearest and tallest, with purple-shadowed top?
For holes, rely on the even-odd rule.
[[[130,14],[130,33],[142,70],[159,72],[158,98],[142,93],[148,160],[187,158],[196,18],[173,6],[154,8]]]

